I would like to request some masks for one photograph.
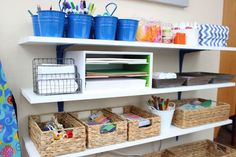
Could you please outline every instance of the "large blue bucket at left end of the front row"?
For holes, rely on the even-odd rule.
[[[40,35],[46,37],[62,37],[64,34],[65,13],[44,10],[38,12]]]

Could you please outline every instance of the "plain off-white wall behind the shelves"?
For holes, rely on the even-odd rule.
[[[113,0],[119,8],[116,11],[118,17],[143,17],[147,19],[159,19],[165,22],[197,21],[199,23],[220,24],[222,20],[222,0],[205,1],[189,0],[188,8],[178,8],[166,6],[158,3],[146,2],[144,0]],[[104,11],[106,0],[94,0],[97,4],[96,13],[101,14]],[[21,37],[32,35],[31,19],[27,13],[30,9],[35,11],[36,5],[41,4],[43,9],[48,9],[52,4],[54,8],[57,1],[48,0],[23,0],[23,1],[4,1],[3,5],[8,7],[1,8],[1,29],[0,29],[0,59],[4,71],[16,98],[18,106],[18,115],[20,121],[20,134],[27,132],[27,116],[30,114],[48,113],[57,111],[55,103],[52,104],[29,104],[20,94],[20,88],[32,87],[32,68],[31,62],[35,57],[54,57],[55,47],[53,46],[20,46],[18,41]],[[11,7],[9,9],[9,7]],[[87,49],[84,47],[84,49]],[[101,49],[101,48],[100,48]],[[134,50],[134,49],[132,49]],[[143,49],[142,51],[144,51]],[[158,50],[147,49],[156,52]],[[175,51],[164,51],[155,53],[155,70],[159,71],[178,71],[178,53]],[[219,53],[203,52],[194,53],[186,56],[185,71],[218,71]],[[175,97],[174,94],[171,96]],[[188,92],[185,97],[204,96],[215,98],[216,90],[207,90],[200,92]],[[104,99],[93,101],[68,102],[65,105],[66,111],[89,109],[105,106],[121,106],[127,104],[141,104],[145,97],[128,97],[117,99]],[[141,102],[141,103],[140,103]],[[169,139],[163,142],[163,147],[176,145],[201,138],[212,138],[212,130],[199,132],[193,136],[187,135],[181,137],[179,142]],[[152,147],[158,147],[157,144],[149,144],[129,149],[135,153],[140,151],[151,151]],[[143,149],[137,149],[143,148]],[[149,149],[148,149],[149,148]],[[156,149],[156,148],[155,148]],[[125,151],[125,150],[124,150]],[[102,154],[101,156],[105,156]],[[108,156],[108,154],[106,154]]]

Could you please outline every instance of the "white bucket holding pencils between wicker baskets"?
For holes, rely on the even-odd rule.
[[[170,131],[170,126],[172,122],[172,118],[175,112],[175,108],[170,108],[169,110],[157,110],[153,107],[149,107],[149,110],[160,116],[161,118],[161,133],[169,132]]]

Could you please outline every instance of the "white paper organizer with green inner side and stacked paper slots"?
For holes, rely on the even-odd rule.
[[[152,87],[153,54],[150,52],[68,51],[65,56],[75,60],[83,91]]]

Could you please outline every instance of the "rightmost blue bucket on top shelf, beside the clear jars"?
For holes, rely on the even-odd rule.
[[[133,19],[119,19],[117,26],[117,40],[135,41],[138,21]]]

